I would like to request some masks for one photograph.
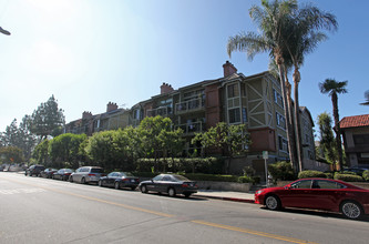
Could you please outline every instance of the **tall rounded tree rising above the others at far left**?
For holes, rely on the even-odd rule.
[[[63,110],[58,108],[54,95],[41,103],[28,120],[30,131],[39,135],[40,141],[43,141],[48,135],[57,136],[64,122]]]

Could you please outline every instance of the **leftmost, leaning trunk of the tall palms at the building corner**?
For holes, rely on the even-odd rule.
[[[283,62],[281,62],[281,58],[278,58],[278,55],[276,55],[276,63],[278,64],[278,70],[279,70],[279,78],[280,78],[280,87],[281,87],[281,96],[284,100],[284,111],[285,111],[285,118],[286,118],[286,132],[287,132],[287,138],[288,138],[288,152],[289,152],[289,159],[290,162],[293,164],[293,166],[295,166],[296,163],[296,154],[295,154],[295,143],[294,143],[294,138],[293,138],[293,128],[291,128],[291,118],[289,118],[288,114],[288,104],[287,104],[287,95],[286,95],[286,79],[285,79],[285,72],[284,72],[284,67],[283,67]],[[296,167],[295,167],[296,170]]]

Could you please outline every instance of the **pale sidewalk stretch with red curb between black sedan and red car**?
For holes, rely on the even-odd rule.
[[[214,191],[214,190],[198,190],[194,196],[216,199],[224,201],[234,201],[243,203],[254,203],[254,193],[247,192],[224,192],[224,191]]]

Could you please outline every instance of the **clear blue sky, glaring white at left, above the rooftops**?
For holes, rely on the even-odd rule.
[[[300,1],[305,2],[305,1]],[[339,95],[340,118],[368,114],[359,105],[369,90],[369,1],[310,1],[332,12],[338,31],[306,58],[300,105],[314,120],[331,113],[319,92],[327,78],[348,80]],[[240,31],[257,31],[248,16],[259,0],[0,0],[0,131],[19,122],[52,94],[66,122],[83,111],[105,112],[109,102],[131,108],[160,93],[217,79],[229,60],[253,75],[268,69],[267,54],[227,57],[226,43]]]

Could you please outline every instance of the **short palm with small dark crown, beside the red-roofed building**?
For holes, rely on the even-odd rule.
[[[344,169],[344,155],[342,155],[342,141],[339,128],[339,114],[338,114],[338,94],[347,93],[348,81],[336,81],[334,79],[326,79],[325,82],[319,83],[320,92],[331,98],[334,106],[334,119],[335,119],[335,132],[336,132],[336,146],[338,152],[339,169]]]

